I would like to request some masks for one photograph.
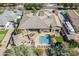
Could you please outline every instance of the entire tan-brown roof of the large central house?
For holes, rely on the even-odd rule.
[[[50,25],[52,25],[52,27],[60,26],[59,23],[60,21],[58,21],[58,18],[56,20],[53,14],[44,18],[40,18],[40,16],[29,17],[24,14],[19,29],[48,29]]]

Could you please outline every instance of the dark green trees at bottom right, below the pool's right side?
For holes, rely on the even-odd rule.
[[[77,56],[79,52],[75,51],[72,48],[69,48],[68,43],[56,43],[48,49],[47,54],[49,56]]]

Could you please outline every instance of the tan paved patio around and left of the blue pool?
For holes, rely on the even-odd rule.
[[[38,45],[40,45],[40,46],[42,46],[42,45],[50,46],[50,44],[40,44],[39,43],[39,37],[40,36],[45,36],[45,34],[50,34],[50,36],[53,37],[53,35],[55,35],[56,33],[55,32],[41,32],[41,33],[38,33],[36,31],[32,32],[32,31],[23,30],[22,33],[17,35],[18,39],[16,38],[17,39],[16,43],[17,43],[17,45],[20,45],[21,42],[25,42],[27,45],[34,46],[36,48],[37,48]],[[27,35],[30,37],[30,40],[27,37]],[[28,43],[28,40],[30,41],[30,43]]]

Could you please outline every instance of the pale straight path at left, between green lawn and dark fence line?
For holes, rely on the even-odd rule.
[[[2,46],[0,47],[0,56],[3,56],[5,50],[6,50],[6,46],[8,44],[8,41],[11,37],[11,33],[14,31],[14,29],[10,29],[8,30],[6,36],[4,37],[3,41],[2,41]]]

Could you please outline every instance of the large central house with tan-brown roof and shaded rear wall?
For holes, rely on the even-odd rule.
[[[43,16],[41,16],[43,17]],[[19,25],[19,29],[43,31],[50,30],[60,31],[62,25],[56,14],[45,15],[43,18],[40,16],[26,16],[24,15]]]

